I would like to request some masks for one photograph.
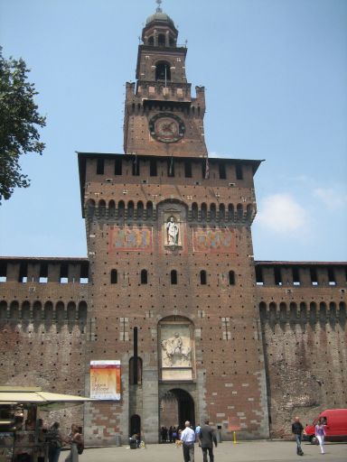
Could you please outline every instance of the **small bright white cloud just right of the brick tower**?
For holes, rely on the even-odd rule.
[[[258,223],[275,233],[304,233],[308,227],[305,209],[290,194],[267,196],[258,207]]]

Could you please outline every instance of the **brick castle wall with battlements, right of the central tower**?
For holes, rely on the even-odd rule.
[[[346,264],[257,262],[270,434],[347,407]],[[293,276],[294,275],[294,276]]]

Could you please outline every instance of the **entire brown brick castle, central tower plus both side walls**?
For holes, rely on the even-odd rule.
[[[95,386],[87,445],[205,417],[222,439],[283,437],[296,413],[347,406],[347,263],[254,261],[261,162],[209,158],[177,39],[158,6],[125,153],[78,154],[88,258],[0,258],[1,384]],[[98,366],[117,369],[116,398]]]

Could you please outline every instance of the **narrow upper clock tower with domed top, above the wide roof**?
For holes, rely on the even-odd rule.
[[[161,2],[158,2],[160,5]],[[138,47],[136,83],[127,82],[124,150],[131,154],[207,156],[205,96],[185,75],[187,49],[161,7],[149,16]]]

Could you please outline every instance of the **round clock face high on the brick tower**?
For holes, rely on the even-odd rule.
[[[183,138],[185,132],[183,120],[168,113],[154,115],[148,126],[151,136],[163,143],[175,143]]]

